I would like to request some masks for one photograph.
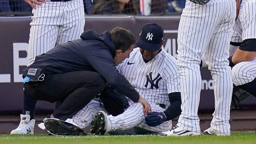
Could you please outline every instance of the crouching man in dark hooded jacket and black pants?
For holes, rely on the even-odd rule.
[[[66,120],[98,95],[107,81],[134,102],[142,103],[145,113],[149,112],[151,107],[147,101],[115,67],[129,57],[135,42],[134,35],[123,28],[114,28],[101,35],[87,30],[81,39],[36,56],[24,73],[27,76],[25,94],[36,100],[62,101],[52,116]]]

